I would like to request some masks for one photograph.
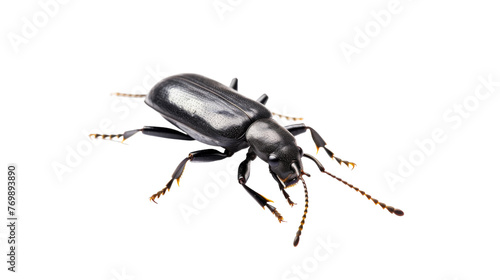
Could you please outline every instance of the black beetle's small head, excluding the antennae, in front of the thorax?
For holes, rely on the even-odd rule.
[[[267,163],[272,172],[284,183],[285,187],[295,185],[303,173],[302,149],[296,145],[283,146],[269,154]]]

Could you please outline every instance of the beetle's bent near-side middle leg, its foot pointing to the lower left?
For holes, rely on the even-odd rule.
[[[149,200],[152,200],[154,203],[156,203],[155,201],[156,198],[160,197],[161,195],[164,195],[166,191],[170,191],[170,187],[172,186],[174,180],[177,180],[177,185],[179,185],[179,180],[182,176],[182,173],[184,172],[184,168],[186,167],[188,161],[211,162],[211,161],[222,160],[232,155],[233,153],[229,152],[228,150],[225,150],[224,153],[221,153],[214,149],[206,149],[189,153],[189,155],[185,159],[183,159],[181,163],[179,163],[174,173],[172,174],[172,179],[168,181],[167,185],[161,191],[153,194],[149,198]]]

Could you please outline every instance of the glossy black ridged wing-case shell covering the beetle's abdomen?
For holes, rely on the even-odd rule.
[[[194,139],[231,152],[248,147],[245,132],[254,121],[272,117],[261,103],[196,74],[163,79],[145,102]]]

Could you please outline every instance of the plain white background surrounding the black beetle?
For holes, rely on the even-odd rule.
[[[2,279],[499,279],[500,87],[474,97],[488,93],[480,77],[500,81],[495,1],[5,2],[0,209],[6,217],[15,163],[19,225],[18,273],[2,261]],[[387,11],[382,26],[374,14]],[[357,52],[346,56],[346,44]],[[358,164],[350,171],[320,151],[327,170],[405,216],[305,162],[310,211],[295,248],[302,186],[290,189],[290,208],[265,163],[253,163],[248,185],[275,201],[288,221],[279,224],[236,182],[245,152],[188,163],[180,187],[150,202],[190,151],[207,147],[86,135],[102,123],[108,133],[171,127],[141,100],[110,93],[184,72],[238,77],[242,94],[267,93],[271,110],[304,117]],[[445,140],[422,157],[415,141],[436,129]],[[308,134],[297,138],[315,153]],[[413,172],[398,171],[412,155]],[[391,187],[388,173],[404,182]]]

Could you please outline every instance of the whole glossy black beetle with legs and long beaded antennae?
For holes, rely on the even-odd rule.
[[[278,218],[279,222],[283,221],[283,217],[274,206],[269,204],[272,201],[246,185],[250,176],[250,162],[259,157],[269,164],[269,172],[291,206],[295,203],[292,202],[285,189],[295,185],[298,181],[301,181],[304,186],[305,210],[293,242],[294,246],[299,243],[308,207],[308,192],[303,176],[309,176],[309,174],[304,172],[302,157],[312,160],[321,172],[358,191],[390,213],[398,216],[404,215],[403,211],[379,202],[364,191],[327,172],[316,158],[303,153],[302,149],[297,146],[294,136],[309,130],[318,150],[323,148],[339,164],[344,163],[352,168],[355,166],[352,162],[335,157],[325,147],[326,142],[314,129],[304,124],[281,126],[273,119],[274,113],[271,113],[264,106],[268,100],[267,95],[263,94],[257,101],[254,101],[240,95],[237,90],[238,80],[236,78],[227,87],[196,74],[171,76],[157,83],[147,96],[122,93],[116,95],[146,97],[147,105],[183,132],[164,127],[145,126],[141,129],[126,131],[123,134],[90,134],[90,136],[102,137],[103,139],[123,138],[125,141],[137,132],[142,132],[146,135],[163,138],[198,140],[211,146],[224,148],[224,152],[206,149],[189,153],[177,166],[166,187],[150,197],[150,200],[155,203],[156,198],[170,190],[173,180],[177,180],[179,183],[179,178],[188,161],[222,160],[239,150],[248,148],[246,159],[238,168],[238,182],[260,206],[263,208],[266,206]]]

